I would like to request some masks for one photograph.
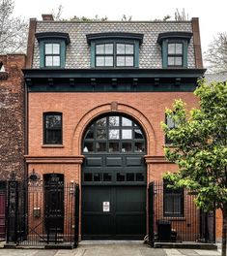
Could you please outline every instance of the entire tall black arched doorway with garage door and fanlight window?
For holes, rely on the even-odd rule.
[[[121,115],[103,116],[83,140],[82,239],[142,240],[146,234],[145,138]]]

